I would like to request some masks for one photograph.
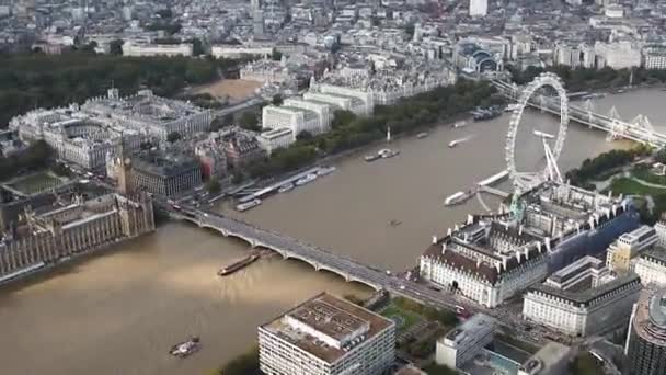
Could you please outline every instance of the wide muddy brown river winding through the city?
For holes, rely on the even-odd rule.
[[[666,92],[641,90],[600,99],[597,107],[605,113],[616,105],[624,118],[642,113],[657,124],[665,100]],[[416,264],[433,235],[482,211],[476,200],[455,207],[443,201],[504,168],[508,117],[397,139],[390,147],[401,155],[392,159],[363,161],[386,145],[360,150],[337,160],[333,174],[232,215],[361,262],[404,270]],[[558,122],[532,112],[523,125],[555,133]],[[519,168],[542,162],[540,140],[530,132],[517,144]],[[571,124],[560,167],[628,146]],[[496,209],[495,198],[486,202]],[[226,205],[217,208],[231,214]],[[0,289],[3,374],[206,374],[253,345],[257,325],[319,292],[370,293],[277,257],[228,277],[216,275],[246,251],[243,242],[168,223],[106,254]],[[191,336],[202,338],[202,351],[185,360],[168,354]]]

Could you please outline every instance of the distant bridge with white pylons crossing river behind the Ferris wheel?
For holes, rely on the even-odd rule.
[[[520,88],[517,86],[503,81],[493,81],[493,84],[510,99],[516,100],[520,95]],[[560,101],[556,98],[543,98],[543,101],[531,98],[528,105],[558,116],[560,115]],[[627,138],[655,147],[666,146],[666,135],[655,132],[652,125],[646,122],[628,123],[620,118],[613,118],[575,105],[569,106],[569,117],[583,125],[608,132],[612,138]]]

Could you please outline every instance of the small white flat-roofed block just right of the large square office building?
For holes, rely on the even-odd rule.
[[[493,342],[495,319],[476,314],[437,340],[435,362],[460,368]]]

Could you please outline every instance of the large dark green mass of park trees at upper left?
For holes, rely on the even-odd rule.
[[[150,88],[162,96],[175,96],[188,84],[218,78],[218,70],[233,70],[240,59],[184,57],[122,57],[122,41],[111,44],[108,55],[64,53],[0,54],[0,127],[34,107],[81,103],[103,95],[113,84],[123,95]]]

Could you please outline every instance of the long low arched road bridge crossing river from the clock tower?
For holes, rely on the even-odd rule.
[[[449,296],[427,285],[400,279],[351,258],[303,243],[297,239],[261,229],[252,224],[210,211],[203,211],[184,204],[180,204],[180,211],[169,209],[172,218],[187,220],[202,228],[210,228],[225,237],[240,238],[252,247],[273,250],[284,259],[300,260],[312,265],[318,271],[326,270],[333,272],[346,281],[358,282],[375,289],[386,289],[394,295],[418,300],[437,308],[452,310],[456,305],[461,305],[470,311],[479,310],[479,306],[475,305],[447,300]]]

